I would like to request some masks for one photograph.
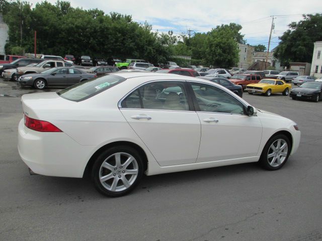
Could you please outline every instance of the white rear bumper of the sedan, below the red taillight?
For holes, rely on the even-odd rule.
[[[21,159],[36,174],[57,177],[83,177],[85,167],[97,146],[82,146],[65,133],[43,133],[18,126]]]

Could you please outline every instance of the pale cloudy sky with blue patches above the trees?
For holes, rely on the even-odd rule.
[[[42,1],[29,0],[35,6]],[[56,0],[47,0],[54,4]],[[117,12],[131,15],[139,23],[145,21],[152,25],[154,31],[175,34],[206,33],[217,25],[240,24],[241,34],[250,45],[263,44],[268,47],[269,35],[274,17],[270,50],[278,45],[279,36],[288,29],[291,22],[298,22],[302,14],[322,13],[321,0],[70,0],[71,6],[83,9],[100,9],[109,14]],[[317,12],[319,11],[319,12]]]

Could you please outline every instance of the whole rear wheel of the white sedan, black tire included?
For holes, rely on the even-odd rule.
[[[121,166],[117,166],[116,157],[115,157],[119,153],[121,153],[119,158]],[[128,177],[127,174],[123,174],[123,172],[126,173],[126,170],[129,171],[127,167],[122,167],[122,165],[125,164],[125,160],[129,158],[129,156],[133,157],[134,160],[127,167],[132,168],[131,170],[137,170],[136,176],[135,174],[134,175],[132,174],[130,177]],[[110,162],[112,162],[112,164],[110,164]],[[103,163],[110,164],[110,167],[112,168],[112,170],[108,168],[104,168],[102,166]],[[134,148],[131,148],[128,146],[116,146],[116,147],[109,148],[104,152],[102,152],[94,162],[93,169],[92,169],[92,179],[94,182],[94,186],[100,193],[102,193],[105,196],[108,196],[108,197],[123,196],[131,192],[135,188],[137,183],[140,181],[143,175],[143,167],[144,165],[143,165],[142,157],[138,154],[138,152]],[[102,182],[100,181],[100,176],[102,177],[110,176],[110,177],[102,184]],[[126,187],[125,183],[122,181],[123,178],[126,178],[126,180],[128,181],[127,182],[129,184],[128,187]],[[115,190],[113,191],[114,182],[116,182],[116,184],[114,188]],[[121,183],[122,185],[119,185]],[[119,190],[116,190],[117,188]]]

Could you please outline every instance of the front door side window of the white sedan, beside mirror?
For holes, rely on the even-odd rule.
[[[215,86],[191,83],[200,111],[244,114],[244,105],[232,95]]]

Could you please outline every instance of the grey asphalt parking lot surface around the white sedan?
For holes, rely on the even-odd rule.
[[[0,78],[0,240],[322,239],[322,101],[244,92],[300,128],[298,152],[278,171],[252,163],[149,176],[107,198],[86,179],[29,175],[17,126],[21,95],[34,92]]]

